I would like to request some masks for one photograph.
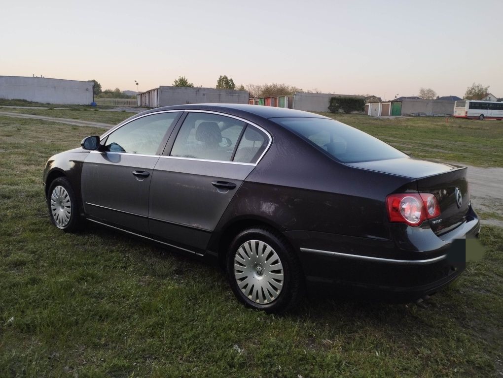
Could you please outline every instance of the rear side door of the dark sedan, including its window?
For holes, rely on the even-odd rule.
[[[149,227],[160,238],[204,250],[223,212],[270,137],[227,115],[190,112],[155,165]]]

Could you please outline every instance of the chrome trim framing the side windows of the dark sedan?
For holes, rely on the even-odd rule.
[[[160,111],[154,111],[154,112],[151,112],[151,113],[148,113],[148,114],[143,114],[143,115],[139,115],[133,119],[130,119],[129,121],[127,122],[124,122],[124,123],[119,123],[116,127],[110,129],[109,131],[107,131],[105,134],[103,134],[101,137],[100,137],[100,141],[102,139],[105,139],[107,138],[111,133],[115,132],[116,130],[119,130],[120,128],[122,128],[124,125],[136,120],[136,119],[139,119],[139,118],[143,118],[143,117],[146,117],[148,115],[152,115],[152,114],[161,114],[161,113],[184,113],[184,112],[190,112],[190,113],[208,113],[208,114],[216,114],[216,115],[222,115],[224,117],[229,117],[229,118],[234,118],[234,119],[237,119],[237,120],[240,120],[242,122],[245,122],[246,124],[249,124],[250,126],[253,126],[254,128],[257,128],[259,129],[260,131],[262,131],[264,134],[267,135],[267,138],[269,138],[269,143],[267,145],[267,148],[264,150],[264,152],[262,153],[262,155],[259,157],[259,159],[257,159],[257,163],[240,163],[240,162],[228,162],[228,161],[224,161],[224,160],[209,160],[209,159],[195,159],[195,158],[184,158],[184,157],[179,157],[179,156],[166,156],[166,155],[143,155],[143,154],[132,154],[130,152],[112,152],[112,151],[107,151],[106,153],[107,154],[124,154],[124,155],[133,155],[133,156],[157,156],[157,157],[161,157],[161,158],[172,158],[172,159],[185,159],[185,160],[196,160],[196,161],[206,161],[206,162],[212,162],[212,163],[231,163],[231,164],[240,164],[240,165],[251,165],[251,166],[257,166],[257,164],[260,163],[260,161],[262,160],[262,158],[264,157],[264,155],[266,155],[266,153],[269,151],[269,149],[271,148],[271,145],[273,143],[273,138],[271,137],[271,134],[269,134],[269,132],[267,130],[264,130],[263,128],[261,128],[259,125],[247,120],[247,119],[244,119],[244,118],[241,118],[241,117],[238,117],[236,115],[232,115],[232,114],[226,114],[226,113],[221,113],[221,112],[218,112],[218,111],[211,111],[211,110],[200,110],[200,109],[176,109],[176,110],[160,110]],[[176,139],[176,137],[175,137]],[[237,147],[237,146],[236,146]],[[100,152],[100,151],[91,151],[91,152],[97,152],[97,153],[100,153],[100,154],[103,154],[104,152]]]

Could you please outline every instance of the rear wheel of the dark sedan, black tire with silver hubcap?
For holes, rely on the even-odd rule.
[[[234,295],[247,307],[281,313],[296,307],[304,297],[299,259],[286,238],[272,229],[253,227],[236,235],[227,252],[226,271]],[[277,279],[281,274],[283,280]]]

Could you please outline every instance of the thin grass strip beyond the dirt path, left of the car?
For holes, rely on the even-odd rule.
[[[124,119],[129,118],[136,113],[127,111],[96,111],[91,107],[75,107],[71,109],[29,109],[29,108],[7,108],[0,107],[0,111],[8,111],[11,113],[23,113],[43,115],[46,117],[81,119],[85,121],[94,121],[100,123],[109,123],[116,125]]]

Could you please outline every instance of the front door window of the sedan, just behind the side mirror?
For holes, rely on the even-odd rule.
[[[180,112],[157,113],[132,120],[106,138],[104,150],[155,155],[179,115]]]

